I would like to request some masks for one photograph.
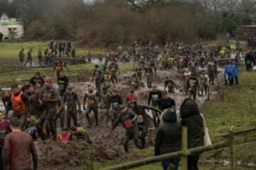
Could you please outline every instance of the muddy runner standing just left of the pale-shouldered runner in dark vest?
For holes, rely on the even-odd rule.
[[[82,113],[78,94],[68,87],[67,92],[63,96],[63,106],[66,104],[67,128],[70,129],[71,118],[75,126],[78,126],[78,112]]]

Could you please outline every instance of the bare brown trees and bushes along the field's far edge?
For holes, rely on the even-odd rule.
[[[0,15],[21,17],[27,39],[87,45],[134,40],[215,39],[252,23],[256,0],[0,0]]]

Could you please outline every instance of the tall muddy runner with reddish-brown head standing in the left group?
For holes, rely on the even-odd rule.
[[[41,100],[43,101],[44,114],[46,115],[46,137],[57,140],[55,116],[57,113],[57,103],[60,100],[57,91],[52,86],[52,80],[46,78],[45,87],[42,89]]]

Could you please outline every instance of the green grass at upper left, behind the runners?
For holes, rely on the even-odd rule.
[[[37,61],[37,51],[41,47],[45,49],[48,42],[0,42],[0,88],[8,87],[12,83],[19,83],[18,80],[30,79],[36,72],[41,72],[46,77],[53,77],[53,68],[29,68],[23,67],[18,63],[18,52],[24,48],[25,54],[33,48],[33,60]],[[85,56],[90,49],[78,48],[77,55]],[[90,50],[92,55],[97,55],[100,50]],[[104,50],[103,50],[104,52]],[[92,72],[94,64],[78,64],[69,65],[70,72],[66,72],[68,76],[84,74]],[[131,65],[122,64],[120,69],[123,72],[132,70]],[[1,91],[1,89],[0,89]]]

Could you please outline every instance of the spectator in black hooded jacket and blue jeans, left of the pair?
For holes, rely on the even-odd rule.
[[[181,124],[177,123],[177,115],[173,108],[166,109],[162,113],[161,124],[156,132],[155,156],[177,152],[181,150]],[[174,166],[178,170],[180,158],[164,159],[162,161],[163,169],[169,169]]]

